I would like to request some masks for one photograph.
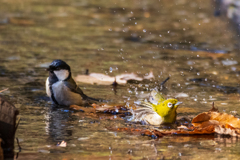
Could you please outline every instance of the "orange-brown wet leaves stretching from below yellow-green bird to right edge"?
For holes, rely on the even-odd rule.
[[[158,129],[137,129],[137,128],[118,128],[117,131],[138,132],[142,135],[159,138],[164,135],[212,135],[218,133],[221,135],[230,135],[240,137],[240,120],[233,115],[218,113],[214,107],[208,112],[201,113],[193,118],[191,124],[181,125],[178,130],[168,131]]]

